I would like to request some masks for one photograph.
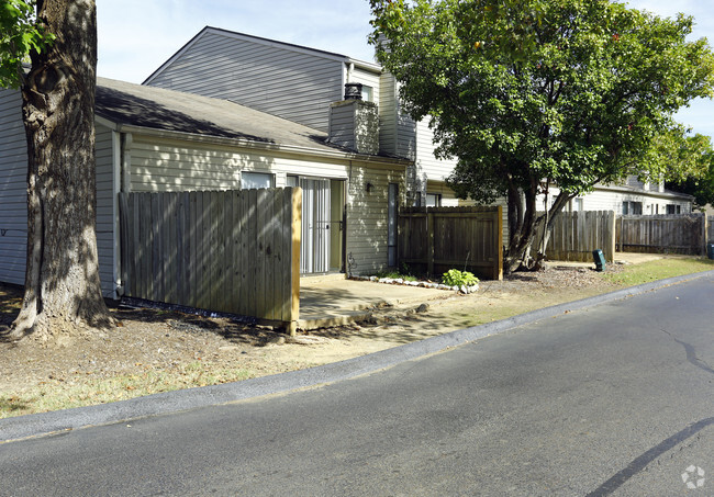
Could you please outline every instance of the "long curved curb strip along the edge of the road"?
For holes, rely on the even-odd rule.
[[[451,331],[369,355],[308,370],[256,377],[236,383],[166,392],[112,404],[0,419],[0,443],[63,433],[85,427],[125,422],[132,419],[167,415],[198,407],[228,404],[247,398],[286,393],[299,388],[348,380],[391,368],[404,361],[439,352],[450,347],[458,347],[487,336],[504,332],[518,326],[551,318],[566,312],[594,307],[707,275],[714,276],[714,271],[670,278],[618,290],[604,295],[596,295],[581,301],[532,310],[500,321]]]

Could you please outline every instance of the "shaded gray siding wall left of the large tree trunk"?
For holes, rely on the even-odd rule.
[[[24,284],[27,246],[27,145],[22,98],[0,89],[0,281]]]

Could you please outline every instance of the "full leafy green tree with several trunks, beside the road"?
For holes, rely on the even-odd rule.
[[[479,203],[507,199],[507,272],[572,197],[632,173],[663,177],[661,161],[644,160],[655,138],[713,94],[714,56],[687,41],[684,15],[606,0],[370,3],[370,39],[404,109],[431,120],[437,157],[457,159],[449,185]]]

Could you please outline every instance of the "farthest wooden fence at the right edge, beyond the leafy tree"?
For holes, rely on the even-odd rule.
[[[622,216],[617,249],[623,252],[706,253],[705,214]]]

